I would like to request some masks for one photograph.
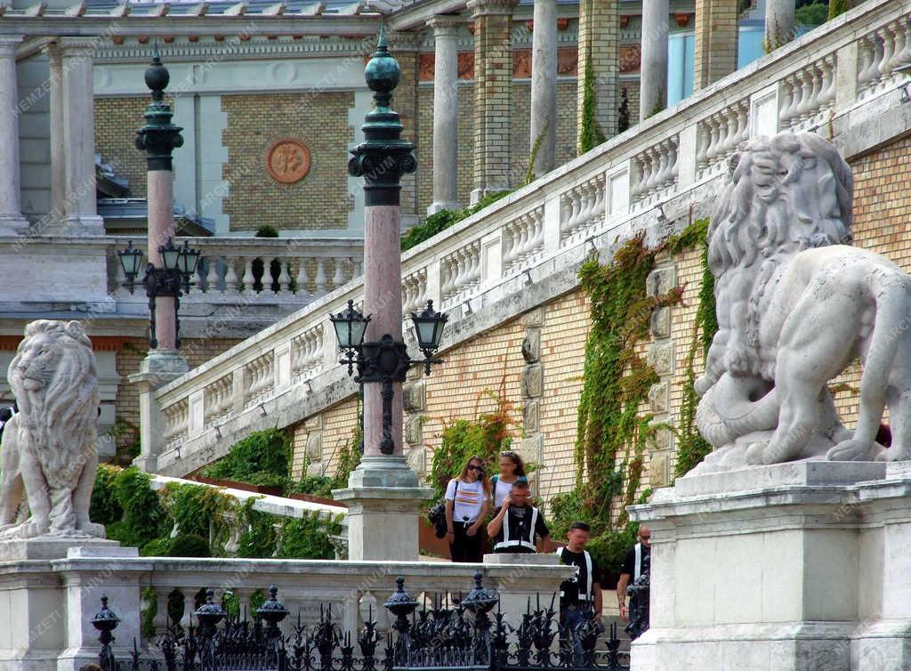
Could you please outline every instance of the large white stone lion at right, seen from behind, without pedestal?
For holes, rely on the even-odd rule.
[[[719,331],[696,381],[714,451],[693,471],[792,459],[911,459],[911,277],[851,246],[851,170],[814,134],[752,139],[709,229]],[[860,413],[828,382],[856,357]],[[893,442],[875,443],[889,408]]]

